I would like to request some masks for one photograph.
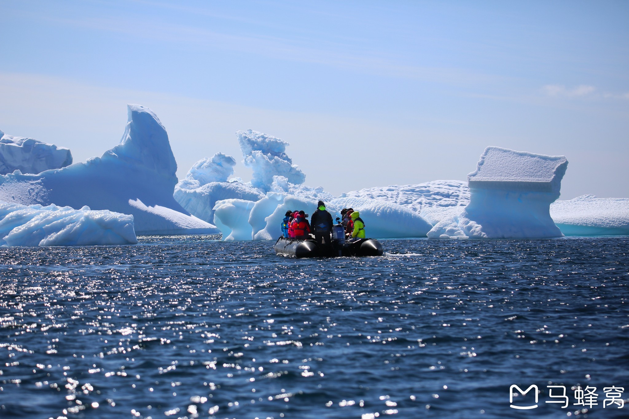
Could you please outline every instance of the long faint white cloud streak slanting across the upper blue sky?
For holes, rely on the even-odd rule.
[[[492,84],[510,79],[468,68],[413,65],[403,60],[397,60],[396,58],[399,57],[392,57],[386,52],[362,52],[357,46],[343,42],[320,43],[320,41],[309,38],[289,39],[281,36],[257,35],[238,31],[228,33],[199,26],[164,21],[142,21],[133,18],[72,19],[47,17],[45,19],[91,30],[122,33],[149,41],[176,42],[203,48],[219,48],[282,60],[318,63],[337,68],[350,68],[365,73],[443,84]]]

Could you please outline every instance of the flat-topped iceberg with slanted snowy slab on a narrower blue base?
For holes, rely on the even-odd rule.
[[[447,214],[428,238],[562,236],[550,204],[559,198],[567,165],[564,156],[487,147],[467,177],[470,203]]]

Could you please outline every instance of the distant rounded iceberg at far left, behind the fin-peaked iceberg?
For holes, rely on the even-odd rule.
[[[42,173],[72,164],[72,153],[64,147],[14,137],[0,131],[0,175],[13,173]]]

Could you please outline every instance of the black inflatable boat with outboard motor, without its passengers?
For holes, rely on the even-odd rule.
[[[280,237],[276,241],[276,254],[295,258],[335,258],[337,256],[382,256],[382,246],[375,239],[345,241],[343,226],[332,226],[330,244],[318,244],[313,239],[287,239]]]

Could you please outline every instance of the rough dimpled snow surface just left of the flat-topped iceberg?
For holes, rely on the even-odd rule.
[[[465,206],[470,202],[467,182],[433,180],[418,185],[389,185],[347,192],[348,197],[379,199],[420,211],[427,207]]]

